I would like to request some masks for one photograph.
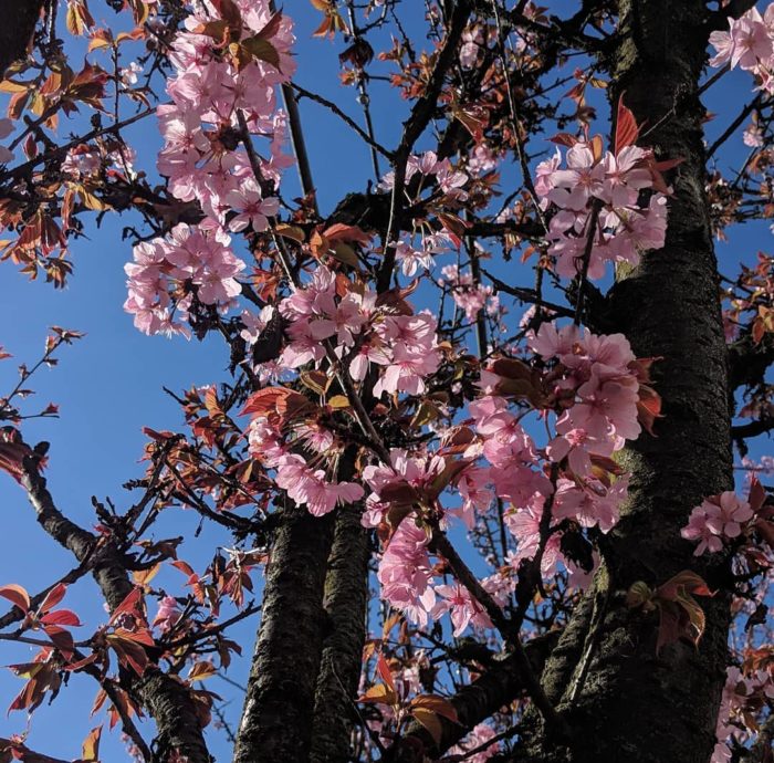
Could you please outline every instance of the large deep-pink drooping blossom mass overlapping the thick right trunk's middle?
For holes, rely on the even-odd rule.
[[[498,394],[509,387],[498,373],[503,367],[495,365],[482,374],[489,394],[470,406],[479,441],[467,453],[480,449],[491,464],[484,481],[512,506],[505,521],[519,541],[514,565],[537,552],[548,500],[554,526],[572,520],[582,527],[608,532],[616,524],[628,481],[626,475],[611,479],[608,470],[615,470],[615,464],[609,458],[626,440],[639,436],[638,404],[646,380],[620,334],[597,336],[574,325],[557,328],[544,323],[529,335],[529,345],[554,363],[543,380],[543,395],[544,405],[558,412],[556,436],[543,452],[537,450],[505,397]],[[604,468],[594,470],[595,462]],[[553,484],[546,463],[562,467]],[[543,572],[555,572],[559,560],[559,536],[552,534],[544,542]]]

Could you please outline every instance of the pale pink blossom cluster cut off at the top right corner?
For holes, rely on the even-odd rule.
[[[754,6],[739,19],[729,18],[729,31],[710,34],[715,55],[711,66],[739,66],[757,81],[759,90],[774,93],[774,3],[763,15]]]

